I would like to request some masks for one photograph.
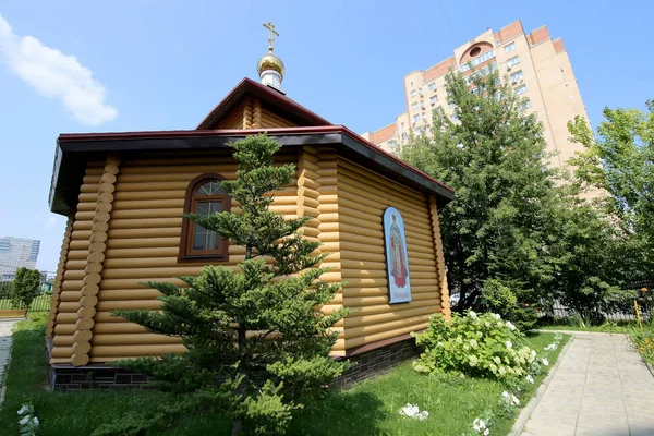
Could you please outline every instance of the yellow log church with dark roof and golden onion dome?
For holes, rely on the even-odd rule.
[[[241,81],[195,130],[59,136],[49,204],[68,225],[46,331],[52,387],[142,383],[107,363],[184,351],[111,312],[158,308],[144,281],[182,284],[177,276],[204,265],[243,261],[240,246],[219,246],[182,213],[211,204],[239,213],[211,182],[235,178],[228,143],[262,132],[282,145],[278,161],[298,169],[271,210],[314,218],[304,234],[330,253],[323,279],[343,283],[323,310],[354,310],[335,326],[335,358],[368,362],[361,372],[392,364],[410,352],[411,331],[434,313],[449,316],[437,211],[452,190],[288,98],[271,39],[258,73],[261,83]]]

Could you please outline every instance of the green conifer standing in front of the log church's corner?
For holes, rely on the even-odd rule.
[[[142,434],[207,411],[228,413],[232,435],[283,433],[291,412],[344,368],[329,352],[337,339],[330,327],[347,311],[319,311],[340,284],[318,280],[327,268],[315,266],[326,253],[315,254],[318,243],[299,232],[311,218],[287,220],[268,210],[271,192],[291,182],[294,166],[272,165],[280,146],[266,135],[232,146],[238,180],[221,185],[242,214],[187,217],[245,249],[238,270],[207,266],[198,277],[181,277],[187,288],[150,282],[162,293],[160,311],[116,312],[149,331],[182,339],[189,350],[183,354],[118,365],[184,395],[154,416],[124,420],[96,434]]]

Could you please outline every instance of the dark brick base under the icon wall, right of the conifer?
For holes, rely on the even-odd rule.
[[[384,374],[402,362],[415,359],[420,352],[415,346],[415,339],[409,338],[350,356],[348,360],[352,367],[337,378],[335,384],[340,387],[349,387],[355,382]]]

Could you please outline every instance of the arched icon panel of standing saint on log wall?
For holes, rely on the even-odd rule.
[[[389,302],[407,303],[411,301],[407,235],[404,220],[395,207],[384,211],[384,242]]]

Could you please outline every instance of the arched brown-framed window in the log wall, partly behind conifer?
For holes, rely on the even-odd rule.
[[[189,183],[184,201],[185,214],[213,215],[229,210],[231,201],[220,187],[220,174],[206,173]],[[189,218],[182,221],[180,261],[215,259],[226,262],[229,256],[229,242],[215,231],[205,229]]]

